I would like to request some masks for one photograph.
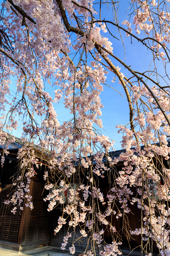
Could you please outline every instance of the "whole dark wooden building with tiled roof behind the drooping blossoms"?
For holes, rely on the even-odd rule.
[[[15,142],[11,143],[9,147],[9,154],[5,156],[5,162],[3,168],[0,168],[0,248],[6,248],[14,251],[25,251],[28,249],[34,249],[44,246],[61,246],[63,242],[63,236],[68,232],[68,221],[63,228],[54,235],[54,229],[58,226],[58,218],[62,213],[62,206],[55,207],[51,212],[47,211],[48,202],[44,202],[43,198],[47,195],[47,191],[44,189],[45,181],[43,180],[43,174],[46,166],[45,155],[42,156],[41,149],[34,146],[36,157],[39,159],[39,169],[36,177],[32,177],[30,183],[30,194],[33,196],[34,209],[30,210],[29,207],[23,205],[23,211],[17,211],[14,215],[11,212],[12,206],[6,206],[4,201],[8,198],[8,195],[12,191],[12,180],[10,179],[18,170],[18,149],[22,147],[20,139],[16,138]],[[0,147],[1,151],[3,150]],[[123,150],[117,150],[110,152],[111,157],[118,157]],[[45,152],[49,154],[48,151]],[[103,162],[107,162],[105,157]],[[107,163],[106,163],[107,164]],[[119,162],[116,165],[117,172],[121,170],[123,163]],[[99,182],[100,182],[99,178]],[[110,190],[109,184],[106,179],[102,179],[100,182],[100,191],[107,195]],[[101,207],[104,207],[101,205]],[[112,222],[116,230],[120,230],[119,236],[123,240],[122,249],[127,249],[131,246],[131,249],[136,248],[139,250],[141,244],[140,236],[131,236],[127,239],[127,231],[135,230],[141,226],[141,210],[136,205],[131,206],[132,212],[128,216],[127,227],[123,227],[123,219],[111,219],[108,216],[108,221]],[[128,229],[128,230],[125,230]],[[76,236],[80,237],[79,228],[76,230]],[[105,238],[108,243],[112,242],[112,236],[109,231],[105,232]],[[69,244],[72,243],[72,237],[69,238]],[[87,237],[83,237],[74,243],[79,246],[79,249],[83,248],[87,244]],[[156,252],[155,246],[155,252]]]

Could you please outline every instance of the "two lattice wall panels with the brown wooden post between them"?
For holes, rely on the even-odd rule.
[[[30,246],[47,246],[49,214],[43,201],[44,184],[31,180],[34,209],[30,210],[24,204],[23,211],[17,211],[15,215],[11,212],[12,206],[4,204],[11,190],[12,184],[0,185],[0,247],[21,251],[30,249]]]

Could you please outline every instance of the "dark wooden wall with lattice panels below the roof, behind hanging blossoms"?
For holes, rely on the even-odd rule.
[[[106,197],[109,187],[104,186],[101,188]],[[67,235],[68,232],[68,222],[63,225],[63,228],[54,235],[54,229],[58,226],[58,218],[62,215],[61,208],[58,207],[51,212],[47,211],[48,204],[44,202],[43,198],[46,196],[46,190],[44,190],[44,184],[34,177],[30,183],[30,194],[33,196],[33,206],[34,209],[30,210],[29,207],[23,205],[24,210],[17,211],[14,215],[11,212],[12,206],[6,207],[4,201],[8,198],[7,195],[10,194],[12,190],[12,184],[2,184],[0,185],[0,247],[22,251],[31,248],[43,247],[47,245],[61,246],[63,241],[63,236]],[[103,211],[105,211],[104,206]],[[119,207],[119,206],[118,206]],[[127,239],[127,230],[135,230],[135,228],[141,226],[141,210],[137,208],[136,205],[131,205],[132,213],[127,214],[127,217],[115,218],[115,215],[108,216],[108,221],[116,227],[116,230],[120,230],[118,237],[123,240],[123,245],[131,249],[140,246],[141,237],[140,236],[129,236]],[[102,209],[101,209],[102,210]],[[116,210],[116,209],[115,209]],[[125,221],[127,225],[125,225]],[[69,232],[73,231],[69,230]],[[69,244],[77,239],[75,245],[80,247],[86,246],[87,237],[80,237],[79,227],[76,227],[76,232],[74,237],[69,238]],[[112,234],[109,230],[105,231],[105,237],[108,239],[108,243],[112,241]],[[140,248],[139,248],[140,249]],[[154,245],[154,250],[157,251]]]

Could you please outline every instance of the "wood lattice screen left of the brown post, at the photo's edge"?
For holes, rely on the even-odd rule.
[[[12,206],[7,206],[4,201],[8,198],[12,189],[12,184],[1,185],[0,193],[0,241],[17,244],[21,214],[19,211],[15,215],[11,212]]]

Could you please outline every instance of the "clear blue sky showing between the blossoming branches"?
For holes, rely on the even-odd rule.
[[[120,5],[120,11],[119,12],[119,21],[120,24],[124,19],[126,19],[125,11],[127,9],[127,1],[122,1],[122,4]],[[102,17],[102,19],[111,20],[112,13],[111,10],[105,10],[102,9],[102,13],[104,13],[107,17]],[[133,22],[133,20],[132,20]],[[109,29],[113,32],[115,36],[120,38],[119,32],[115,34],[115,28],[113,25],[108,26]],[[124,28],[127,28],[124,26]],[[134,26],[132,26],[134,28]],[[133,30],[135,34],[135,30]],[[124,48],[122,45],[121,40],[116,40],[112,36],[110,36],[108,33],[103,33],[103,36],[106,36],[109,38],[110,41],[113,42],[113,52],[114,54],[119,57],[122,60],[124,59]],[[140,37],[140,35],[139,35]],[[128,65],[131,65],[131,68],[138,71],[144,71],[149,67],[149,64],[152,60],[152,53],[147,50],[145,46],[143,46],[141,43],[138,43],[136,39],[125,36],[125,33],[122,32],[122,39],[125,46],[125,52],[126,52],[126,63]],[[113,60],[113,59],[112,59]],[[113,60],[113,63],[115,66],[121,67],[121,65]],[[158,62],[159,64],[159,62]],[[160,66],[163,72],[163,68]],[[126,75],[127,72],[123,67],[121,67],[121,72]],[[122,134],[118,134],[118,128],[115,128],[117,124],[123,124],[126,125],[129,123],[129,104],[126,100],[126,96],[123,90],[123,87],[121,84],[119,84],[118,79],[115,80],[115,83],[112,83],[111,80],[113,80],[114,74],[112,72],[109,72],[107,76],[107,84],[114,87],[116,90],[118,90],[124,97],[122,97],[118,92],[113,90],[112,88],[107,87],[104,85],[104,91],[101,92],[101,102],[104,105],[104,108],[102,109],[102,116],[101,119],[103,121],[103,128],[101,132],[108,136],[110,139],[115,140],[115,149],[121,149],[121,143],[122,140]],[[15,79],[12,79],[12,84],[10,86],[10,89],[15,92]],[[53,92],[55,88],[50,88],[49,92]],[[11,93],[13,93],[11,92]],[[14,93],[13,93],[14,94]],[[58,115],[58,119],[60,120],[60,123],[63,121],[67,121],[70,119],[70,112],[68,109],[65,109],[63,104],[55,105],[55,110]],[[21,124],[22,121],[20,121]],[[17,131],[13,131],[13,135],[20,137],[21,136],[22,129],[18,127]]]

